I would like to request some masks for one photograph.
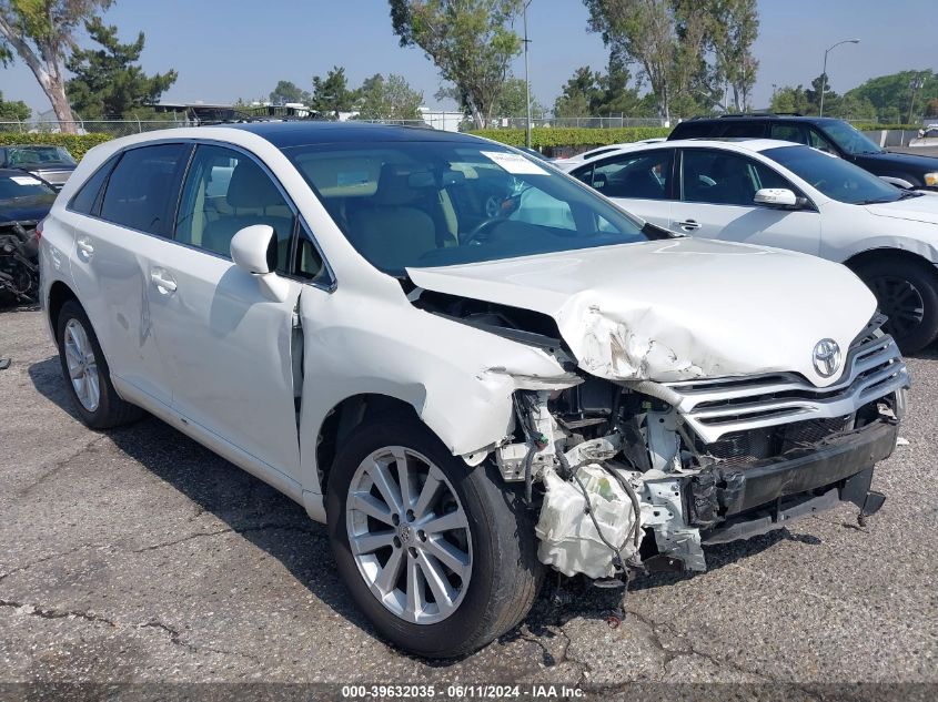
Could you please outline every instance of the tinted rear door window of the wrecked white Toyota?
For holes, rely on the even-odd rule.
[[[124,152],[108,179],[101,217],[168,236],[189,149],[185,144],[160,144]]]

